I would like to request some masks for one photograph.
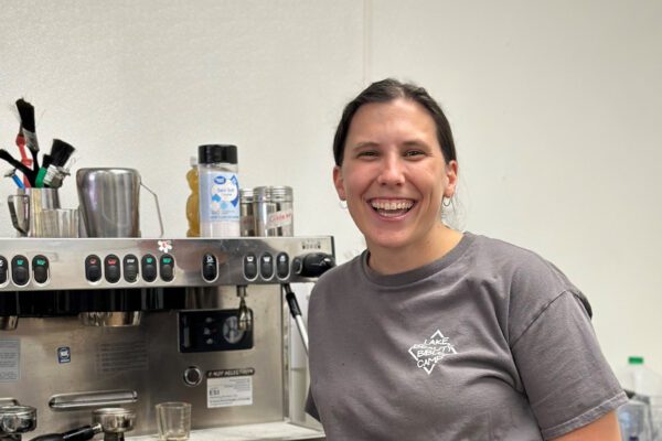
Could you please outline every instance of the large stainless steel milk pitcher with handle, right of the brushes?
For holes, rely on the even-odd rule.
[[[140,237],[140,186],[154,197],[163,236],[159,198],[140,181],[137,170],[79,169],[76,183],[87,237]]]

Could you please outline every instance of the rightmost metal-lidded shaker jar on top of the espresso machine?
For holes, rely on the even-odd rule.
[[[254,190],[253,215],[257,236],[293,236],[292,189],[258,186]]]

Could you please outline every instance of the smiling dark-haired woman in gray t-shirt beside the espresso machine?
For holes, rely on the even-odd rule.
[[[343,112],[333,182],[367,249],[310,310],[308,412],[333,440],[618,440],[627,398],[584,294],[554,265],[441,220],[458,161],[420,87]]]

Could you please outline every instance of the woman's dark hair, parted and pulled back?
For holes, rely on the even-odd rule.
[[[447,163],[457,160],[450,125],[437,101],[423,87],[386,78],[367,86],[367,88],[345,106],[338,129],[335,130],[335,137],[333,138],[333,159],[335,160],[335,165],[342,165],[344,144],[356,110],[365,104],[388,103],[398,98],[416,101],[430,114],[435,120],[435,126],[437,126],[437,140],[439,141],[439,146],[441,146],[444,159]]]

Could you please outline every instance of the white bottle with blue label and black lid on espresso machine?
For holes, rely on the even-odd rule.
[[[205,144],[197,148],[201,237],[242,235],[237,171],[236,146]]]

